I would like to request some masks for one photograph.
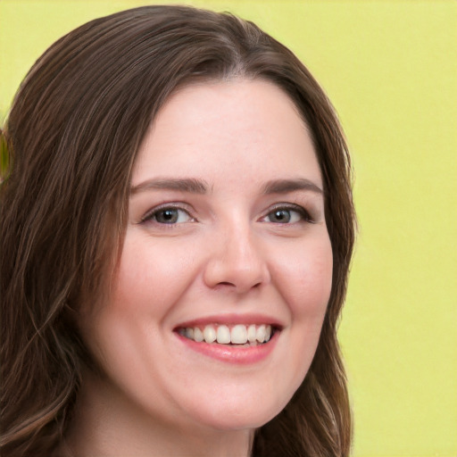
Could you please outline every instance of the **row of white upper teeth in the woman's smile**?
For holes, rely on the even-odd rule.
[[[184,337],[193,339],[200,343],[213,343],[217,341],[221,345],[230,343],[235,345],[245,345],[246,343],[266,343],[270,341],[271,326],[270,325],[243,325],[237,324],[231,329],[226,325],[217,326],[207,325],[202,330],[198,327],[180,328],[179,333]]]

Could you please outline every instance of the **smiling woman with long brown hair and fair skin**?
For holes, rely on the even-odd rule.
[[[350,164],[294,54],[112,14],[40,57],[4,137],[2,455],[348,455]]]

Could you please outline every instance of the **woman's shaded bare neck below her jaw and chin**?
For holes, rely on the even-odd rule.
[[[73,455],[247,457],[250,453],[253,430],[218,430],[183,420],[167,423],[129,401],[115,386],[91,375],[85,378],[65,439]]]

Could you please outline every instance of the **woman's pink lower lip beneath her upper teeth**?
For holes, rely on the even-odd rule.
[[[207,357],[212,357],[213,359],[217,359],[219,361],[246,365],[257,363],[266,359],[275,348],[279,333],[279,331],[276,331],[268,343],[249,347],[237,345],[219,345],[216,342],[197,343],[193,339],[179,335],[179,333],[176,335],[179,337],[179,340],[183,344],[187,345],[189,349],[192,349],[197,353],[202,353]]]

